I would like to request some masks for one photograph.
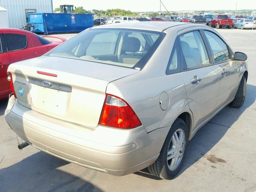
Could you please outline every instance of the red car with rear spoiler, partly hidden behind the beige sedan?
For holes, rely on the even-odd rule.
[[[56,38],[58,41],[49,41]],[[54,36],[38,36],[32,32],[12,29],[0,29],[0,99],[8,98],[12,92],[7,80],[7,68],[11,63],[39,57],[66,41]]]

